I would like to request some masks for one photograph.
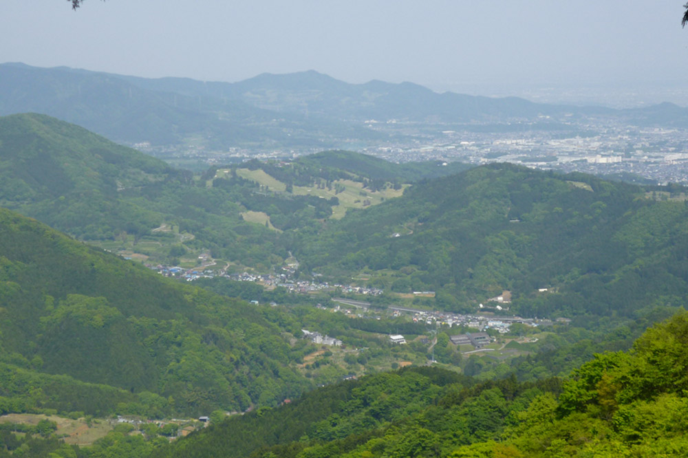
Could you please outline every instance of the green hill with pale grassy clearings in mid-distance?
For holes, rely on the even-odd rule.
[[[317,220],[341,219],[350,208],[399,197],[420,179],[469,167],[458,162],[394,164],[352,151],[323,151],[293,161],[250,160],[212,168],[205,175],[214,173],[213,188],[230,192],[231,199],[249,210],[242,213],[244,219],[247,215],[263,223],[269,219],[269,226],[277,230],[300,230],[319,226]]]

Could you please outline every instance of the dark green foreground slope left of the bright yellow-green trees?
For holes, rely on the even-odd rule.
[[[376,428],[427,408],[450,386],[456,389],[473,383],[433,368],[372,375],[319,388],[276,409],[230,417],[154,456],[248,457],[261,448],[297,441],[370,437]]]

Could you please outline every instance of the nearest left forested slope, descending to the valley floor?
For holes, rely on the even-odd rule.
[[[0,210],[0,347],[0,362],[157,393],[170,413],[270,405],[310,386],[257,307],[9,210]]]

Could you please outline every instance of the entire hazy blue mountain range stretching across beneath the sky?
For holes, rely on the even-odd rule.
[[[688,110],[672,104],[633,110],[546,105],[438,94],[413,83],[349,84],[312,70],[221,83],[0,64],[0,115],[27,111],[75,122],[118,142],[170,145],[202,138],[211,149],[327,149],[351,139],[387,138],[366,129],[364,120],[471,123],[596,115],[642,125],[688,124]]]

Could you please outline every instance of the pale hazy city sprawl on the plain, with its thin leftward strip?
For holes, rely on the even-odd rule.
[[[611,118],[588,116],[559,118],[540,116],[501,124],[442,124],[404,120],[366,120],[366,129],[385,134],[384,142],[335,139],[325,146],[294,149],[208,151],[188,146],[141,151],[166,160],[197,160],[229,164],[251,158],[293,159],[324,149],[347,149],[391,162],[438,160],[487,164],[510,162],[541,170],[583,172],[643,184],[688,184],[688,129],[637,127]],[[334,146],[333,146],[334,145]]]

